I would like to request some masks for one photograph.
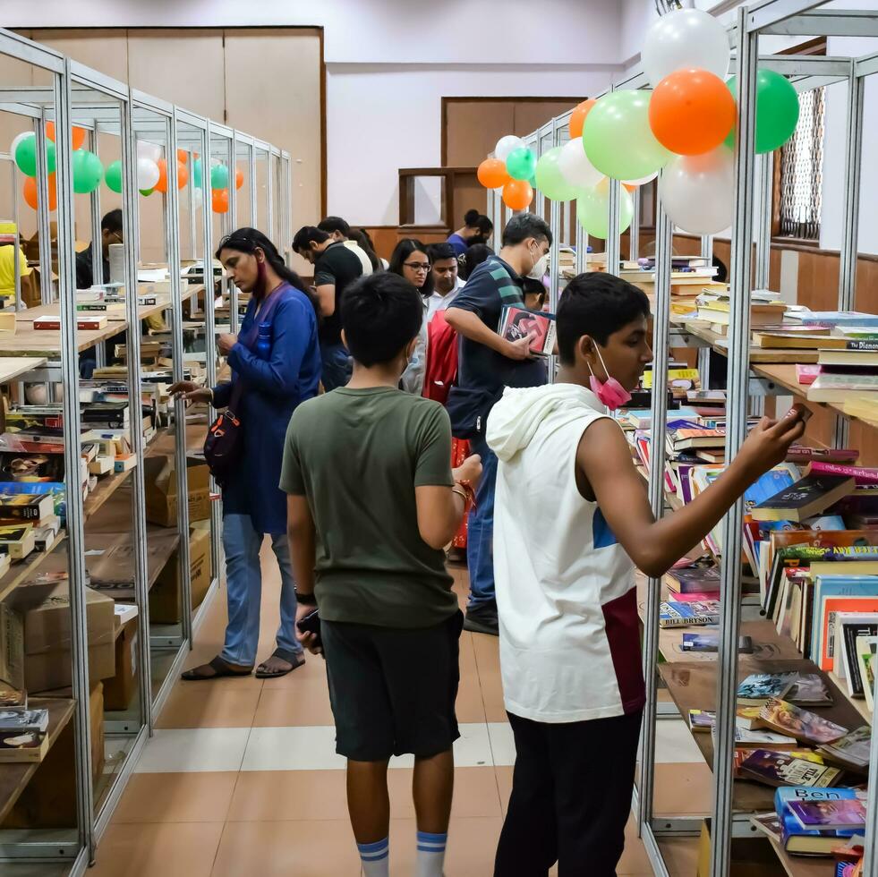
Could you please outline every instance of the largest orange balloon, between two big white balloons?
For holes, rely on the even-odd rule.
[[[736,112],[735,98],[715,73],[678,70],[652,91],[650,127],[666,149],[698,156],[729,136]]]

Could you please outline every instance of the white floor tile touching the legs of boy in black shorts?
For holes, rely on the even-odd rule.
[[[336,729],[253,728],[242,771],[331,771],[343,769],[345,759],[336,754]]]

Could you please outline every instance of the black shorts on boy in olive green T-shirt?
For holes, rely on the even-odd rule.
[[[451,748],[460,737],[455,701],[463,625],[459,610],[442,624],[413,629],[322,622],[339,755],[382,762]]]

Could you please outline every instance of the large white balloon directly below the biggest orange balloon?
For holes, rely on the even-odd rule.
[[[675,156],[661,172],[661,206],[675,226],[691,234],[717,234],[735,212],[735,160],[720,146],[701,156]]]

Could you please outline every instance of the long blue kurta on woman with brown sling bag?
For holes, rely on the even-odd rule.
[[[238,412],[243,421],[240,468],[223,489],[223,514],[250,515],[256,532],[286,532],[286,494],[277,487],[284,456],[286,426],[296,406],[317,396],[320,386],[320,345],[317,317],[305,295],[289,284],[274,293],[278,301],[269,313],[268,332],[255,316],[250,300],[239,337],[247,337],[259,320],[270,338],[265,358],[240,341],[228,354],[232,381],[213,388],[214,405],[223,408],[236,380],[245,382]]]

